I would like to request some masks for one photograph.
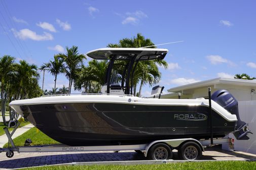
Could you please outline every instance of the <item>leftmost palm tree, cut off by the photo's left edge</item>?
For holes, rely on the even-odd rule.
[[[14,74],[14,60],[15,58],[10,55],[4,55],[0,59],[0,82],[1,82],[1,100],[2,100],[2,117],[4,125],[7,125],[5,112],[7,101],[7,87],[10,84],[10,77]]]

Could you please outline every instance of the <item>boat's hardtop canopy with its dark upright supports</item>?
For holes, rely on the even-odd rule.
[[[96,60],[109,60],[106,71],[106,92],[111,93],[111,81],[115,61],[124,61],[121,88],[124,94],[132,95],[133,76],[139,61],[163,60],[168,49],[162,48],[99,48],[89,51],[88,55]],[[113,89],[113,88],[112,88]],[[103,89],[104,90],[104,89]]]

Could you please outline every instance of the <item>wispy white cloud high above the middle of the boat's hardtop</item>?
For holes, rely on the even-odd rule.
[[[143,13],[142,11],[135,11],[133,13],[127,12],[126,16],[127,17],[125,17],[125,19],[122,21],[122,24],[137,25],[141,19],[148,18],[147,14]]]

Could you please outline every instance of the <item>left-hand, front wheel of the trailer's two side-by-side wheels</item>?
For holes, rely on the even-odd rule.
[[[164,143],[157,143],[150,148],[147,157],[153,160],[171,159],[172,151],[168,145]]]

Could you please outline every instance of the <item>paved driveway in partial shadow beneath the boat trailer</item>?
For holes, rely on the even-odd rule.
[[[214,150],[213,150],[214,149]],[[220,148],[213,148],[203,153],[205,160],[256,160],[256,155],[245,152],[230,152]],[[0,153],[0,169],[21,168],[40,165],[51,165],[72,162],[102,162],[146,160],[144,156],[134,151],[113,152],[45,152],[45,153],[15,153],[14,157],[7,158],[6,153]],[[174,152],[173,159],[177,160]]]

